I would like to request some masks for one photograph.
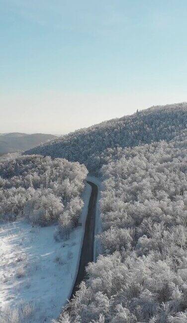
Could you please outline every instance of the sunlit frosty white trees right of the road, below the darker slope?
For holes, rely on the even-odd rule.
[[[60,323],[187,322],[187,136],[101,169],[103,255]]]

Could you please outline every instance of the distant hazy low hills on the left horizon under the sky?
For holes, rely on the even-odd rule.
[[[25,151],[56,138],[58,137],[49,134],[0,134],[0,155],[17,151]]]

